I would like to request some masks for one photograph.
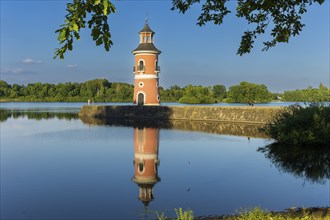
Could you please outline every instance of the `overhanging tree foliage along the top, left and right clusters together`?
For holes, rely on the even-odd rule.
[[[288,43],[293,36],[299,35],[304,24],[301,23],[301,15],[307,12],[307,5],[315,3],[323,4],[325,0],[238,0],[236,16],[245,18],[254,25],[253,30],[246,30],[241,38],[237,50],[238,55],[250,53],[255,39],[266,32],[270,26],[271,39],[263,42],[263,51],[274,47],[277,43]],[[171,10],[179,10],[186,13],[194,4],[200,4],[200,0],[172,0]],[[203,1],[201,14],[197,19],[197,25],[203,26],[207,22],[216,25],[223,23],[224,17],[231,13],[226,4],[229,0]],[[72,50],[73,39],[79,40],[79,32],[86,26],[86,16],[90,14],[88,27],[92,29],[91,35],[96,45],[104,45],[109,51],[112,41],[107,18],[110,13],[115,13],[116,8],[109,0],[73,0],[67,4],[68,14],[65,16],[65,24],[56,31],[58,41],[62,44],[57,48],[55,56],[64,59],[64,53]]]

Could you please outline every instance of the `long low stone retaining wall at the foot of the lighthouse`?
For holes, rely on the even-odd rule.
[[[230,123],[269,122],[282,107],[257,106],[83,106],[80,116],[95,118],[191,120]]]

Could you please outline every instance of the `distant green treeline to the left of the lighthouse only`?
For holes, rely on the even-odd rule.
[[[133,86],[127,83],[110,83],[106,79],[95,79],[83,83],[29,83],[9,85],[0,81],[0,98],[18,101],[45,102],[130,102]]]

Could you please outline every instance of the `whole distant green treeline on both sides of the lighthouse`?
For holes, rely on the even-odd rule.
[[[95,79],[83,83],[30,83],[28,85],[10,85],[0,80],[0,100],[2,101],[45,101],[45,102],[131,102],[133,85]],[[162,102],[180,102],[189,104],[207,104],[217,102],[262,103],[272,100],[319,102],[330,101],[330,90],[323,84],[319,88],[285,91],[283,94],[271,93],[263,84],[241,82],[224,85],[180,87],[168,89],[160,87]]]

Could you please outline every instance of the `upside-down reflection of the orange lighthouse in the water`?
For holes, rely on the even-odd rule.
[[[158,128],[134,128],[134,177],[132,181],[139,187],[139,200],[145,208],[154,198],[154,185],[160,181],[158,149]]]

